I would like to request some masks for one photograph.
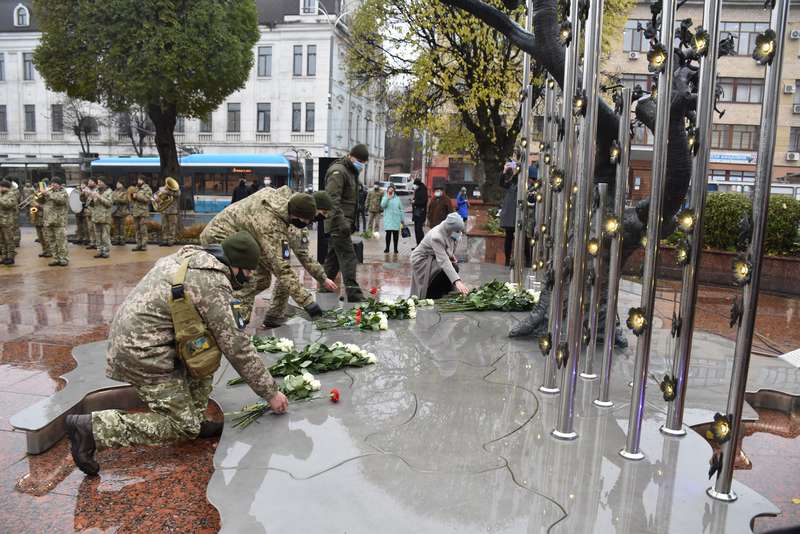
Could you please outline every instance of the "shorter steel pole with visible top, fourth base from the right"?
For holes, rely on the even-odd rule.
[[[603,338],[603,364],[600,368],[600,387],[594,404],[600,407],[613,406],[609,397],[611,384],[611,358],[614,355],[614,334],[617,329],[617,297],[619,295],[619,279],[622,271],[622,218],[625,214],[625,197],[628,194],[628,165],[631,148],[631,90],[622,90],[622,115],[619,118],[617,142],[619,143],[619,164],[614,182],[614,214],[616,229],[606,232],[611,238],[611,250],[608,254],[608,289],[606,292],[606,324]]]

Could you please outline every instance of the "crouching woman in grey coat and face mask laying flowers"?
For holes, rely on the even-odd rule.
[[[411,295],[438,299],[453,289],[466,295],[467,286],[458,275],[456,245],[464,232],[458,213],[447,218],[425,235],[411,253]]]

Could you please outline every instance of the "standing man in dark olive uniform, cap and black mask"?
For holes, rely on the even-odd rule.
[[[356,252],[350,234],[355,229],[358,210],[358,175],[369,159],[366,145],[356,145],[350,154],[335,161],[325,174],[325,191],[333,201],[333,210],[325,219],[325,233],[330,234],[330,249],[325,257],[325,273],[331,280],[342,273],[348,302],[361,302],[364,295],[356,280]]]

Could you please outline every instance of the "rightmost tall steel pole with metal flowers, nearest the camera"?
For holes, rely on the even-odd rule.
[[[761,260],[764,255],[764,233],[767,228],[770,181],[774,158],[776,119],[780,99],[781,67],[786,38],[786,22],[789,0],[772,4],[770,27],[756,38],[753,58],[767,66],[764,81],[764,102],[761,104],[761,134],[758,140],[758,163],[753,191],[752,234],[744,252],[733,263],[734,280],[742,286],[742,296],[734,306],[732,322],[739,324],[736,333],[736,348],[733,355],[733,374],[728,391],[728,406],[725,415],[716,414],[709,434],[720,445],[720,452],[712,459],[712,474],[717,472],[709,496],[720,501],[736,500],[731,489],[733,463],[736,459],[736,444],[742,435],[742,404],[747,387],[747,371],[750,367],[750,350],[753,344],[753,329],[758,306],[758,286],[761,275]]]

